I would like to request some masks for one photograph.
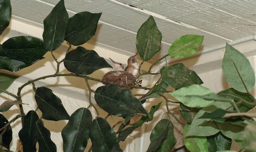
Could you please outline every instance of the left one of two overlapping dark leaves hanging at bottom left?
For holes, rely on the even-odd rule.
[[[36,122],[38,119],[36,112],[29,111],[24,118],[24,127],[18,133],[19,139],[23,143],[23,150],[26,152],[36,151]]]

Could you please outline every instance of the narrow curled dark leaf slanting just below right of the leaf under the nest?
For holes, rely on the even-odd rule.
[[[145,122],[152,121],[154,118],[154,114],[159,109],[161,103],[162,102],[158,103],[157,105],[152,106],[148,115],[142,116],[138,122],[133,124],[133,126],[139,127],[139,126],[142,126],[142,124]]]

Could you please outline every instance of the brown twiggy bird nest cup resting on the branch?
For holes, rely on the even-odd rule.
[[[126,71],[110,71],[103,76],[102,83],[105,85],[116,84],[120,88],[132,89],[135,77]]]

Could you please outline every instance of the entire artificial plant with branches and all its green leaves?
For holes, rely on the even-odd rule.
[[[250,93],[255,85],[255,75],[248,59],[242,53],[229,44],[226,45],[222,69],[231,88],[219,93],[202,86],[203,81],[196,71],[189,70],[182,63],[173,65],[166,63],[157,72],[152,72],[152,69],[166,58],[184,58],[197,53],[203,43],[204,37],[201,35],[188,34],[177,38],[171,42],[172,45],[168,50],[162,50],[166,55],[160,57],[146,72],[143,72],[140,67],[144,61],[150,60],[161,50],[162,34],[157,28],[154,17],[149,16],[144,23],[141,23],[142,26],[137,32],[136,48],[142,62],[135,79],[140,79],[143,75],[159,75],[160,78],[151,88],[135,83],[130,83],[129,87],[120,88],[115,83],[109,84],[102,79],[91,77],[90,74],[93,72],[102,68],[111,68],[111,66],[97,54],[97,50],[88,50],[80,46],[95,34],[100,16],[100,12],[91,13],[84,10],[69,17],[64,0],[60,0],[44,19],[43,40],[31,36],[17,36],[0,44],[2,72],[0,73],[0,93],[14,98],[1,103],[0,113],[9,112],[13,105],[18,105],[20,111],[20,114],[9,120],[0,114],[0,151],[10,151],[12,136],[19,137],[19,147],[17,147],[19,150],[57,151],[50,136],[51,132],[42,121],[45,119],[68,120],[61,131],[65,152],[84,151],[87,146],[91,146],[88,149],[94,152],[121,152],[123,149],[120,148],[120,141],[125,142],[129,135],[144,123],[151,123],[155,119],[155,113],[162,106],[166,108],[168,117],[174,117],[177,122],[172,122],[170,119],[159,120],[152,130],[151,143],[146,151],[168,152],[174,149],[177,142],[174,136],[175,124],[181,123],[169,110],[168,105],[172,103],[180,104],[180,113],[186,120],[186,124],[181,124],[185,147],[189,151],[231,152],[232,142],[241,145],[241,149],[238,149],[240,151],[256,151],[256,138],[253,136],[256,130],[253,118],[256,114],[247,113],[256,105],[256,100]],[[10,19],[10,0],[0,0],[0,34],[8,27]],[[54,51],[63,42],[67,42],[69,48],[65,58],[57,60]],[[72,46],[78,47],[71,50]],[[47,60],[44,58],[46,53],[51,53],[57,63],[55,74],[29,80],[17,89],[17,93],[6,91],[16,77],[4,72],[11,73],[24,68],[30,70],[30,66],[38,60]],[[65,66],[68,73],[59,72],[61,64]],[[89,99],[84,100],[87,100],[90,106],[80,107],[69,115],[62,104],[65,101],[57,97],[47,86],[37,87],[34,83],[60,76],[83,78],[89,90]],[[89,81],[98,81],[103,84],[93,90]],[[37,104],[37,108],[29,112],[25,112],[23,106],[32,101],[23,101],[21,96],[22,90],[27,85],[33,86]],[[168,88],[173,88],[174,91],[169,91]],[[131,92],[132,89],[147,90],[147,93],[134,95]],[[96,104],[108,113],[105,118],[99,117],[99,111],[92,103],[92,94]],[[170,100],[169,96],[173,96],[177,101]],[[162,102],[152,105],[147,111],[144,103],[151,98],[161,98]],[[96,112],[96,117],[92,116],[92,110]],[[111,115],[120,117],[122,121],[111,126],[108,122],[108,117]],[[135,120],[134,117],[139,119],[136,119],[136,122],[131,121]],[[10,124],[16,120],[21,120],[22,129],[18,135],[12,135]],[[89,140],[92,145],[88,144]]]

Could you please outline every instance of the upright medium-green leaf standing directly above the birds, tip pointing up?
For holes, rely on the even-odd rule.
[[[136,48],[143,61],[151,59],[161,49],[162,33],[158,30],[153,16],[142,24],[137,32]]]

